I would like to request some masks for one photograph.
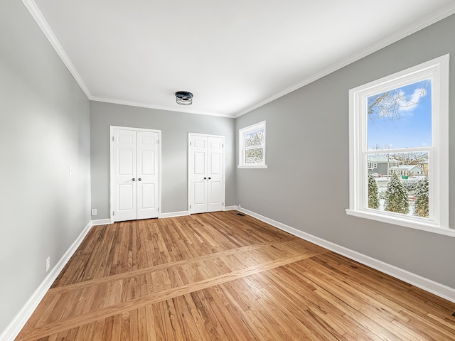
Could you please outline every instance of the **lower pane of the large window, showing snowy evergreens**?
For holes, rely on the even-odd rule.
[[[366,163],[368,208],[429,217],[428,151],[368,155]]]

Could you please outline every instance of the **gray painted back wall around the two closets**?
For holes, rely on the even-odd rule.
[[[168,112],[91,102],[92,208],[109,218],[109,126],[161,130],[161,212],[188,210],[188,133],[225,136],[226,202],[236,205],[235,121],[223,117]]]

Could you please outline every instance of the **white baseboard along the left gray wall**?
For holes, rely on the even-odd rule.
[[[57,279],[58,275],[68,263],[71,256],[73,256],[77,250],[77,247],[79,247],[80,243],[82,243],[82,240],[84,240],[85,236],[90,231],[92,226],[92,222],[89,222],[87,226],[85,226],[75,242],[73,242],[70,248],[65,252],[65,254],[63,254],[58,263],[55,264],[52,269],[50,269],[48,276],[45,276],[43,282],[41,282],[40,286],[38,286],[36,291],[32,294],[31,298],[28,298],[26,304],[23,305],[22,309],[19,310],[11,323],[9,323],[6,329],[0,334],[0,340],[14,340],[17,337],[19,332],[21,332],[23,326],[31,317],[33,311],[35,311],[36,307],[43,299],[45,293],[49,290],[50,286],[52,286],[52,283],[55,281],[55,279]]]

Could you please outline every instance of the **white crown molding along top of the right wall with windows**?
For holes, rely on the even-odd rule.
[[[432,25],[433,23],[437,23],[438,21],[451,16],[452,14],[455,13],[455,4],[450,4],[449,6],[445,6],[444,8],[440,9],[439,11],[436,11],[432,13],[431,15],[427,16],[427,18],[424,18],[422,21],[418,21],[411,26],[401,30],[397,31],[394,33],[392,36],[388,36],[385,39],[382,39],[373,45],[370,45],[368,48],[365,48],[365,50],[362,50],[358,53],[355,53],[354,55],[351,55],[348,58],[345,58],[343,60],[340,60],[338,63],[335,63],[326,69],[315,73],[314,75],[311,75],[310,77],[307,77],[305,80],[302,80],[301,82],[298,82],[295,85],[292,85],[291,87],[288,87],[287,89],[283,90],[282,92],[278,92],[277,94],[274,94],[272,97],[269,97],[265,99],[264,101],[255,104],[254,106],[243,110],[242,112],[236,114],[234,117],[240,117],[244,114],[247,114],[248,112],[252,112],[253,110],[262,107],[263,105],[270,103],[274,101],[275,99],[279,99],[279,97],[283,97],[286,94],[289,94],[290,92],[293,92],[301,87],[304,87],[305,85],[309,85],[311,82],[314,82],[316,80],[319,80],[322,77],[325,77],[326,75],[330,75],[332,72],[335,72],[336,70],[340,70],[342,67],[345,67],[349,64],[354,63],[357,60],[360,60],[367,55],[370,55],[371,53],[374,53],[381,48],[385,48],[388,45],[391,45],[392,43],[397,42],[398,40],[405,38],[407,36],[410,36],[412,33],[416,33],[417,31],[422,30],[422,28],[425,28],[427,26]]]

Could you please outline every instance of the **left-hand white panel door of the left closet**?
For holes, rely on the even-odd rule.
[[[136,131],[114,129],[112,190],[115,220],[137,217],[137,143]]]

